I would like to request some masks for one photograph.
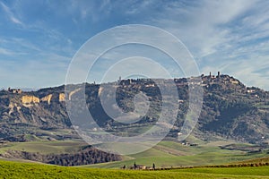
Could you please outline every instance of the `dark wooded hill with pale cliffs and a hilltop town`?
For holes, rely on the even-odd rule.
[[[174,79],[178,88],[179,112],[176,126],[168,137],[176,138],[187,114],[188,79]],[[203,140],[215,137],[262,143],[269,139],[269,93],[255,87],[246,87],[229,75],[201,76],[199,85],[204,89],[204,103],[194,135]],[[171,81],[171,80],[165,80]],[[76,85],[77,89],[81,85]],[[132,99],[140,90],[151,98],[150,109],[135,124],[120,124],[111,119],[100,104],[100,85],[86,84],[85,97],[91,115],[109,132],[135,135],[130,126],[142,129],[158,120],[161,110],[161,92],[151,79],[124,80],[117,88],[117,104],[124,111],[134,110]],[[169,85],[168,85],[169,89]],[[66,98],[75,98],[77,90],[65,97],[65,86],[37,91],[0,91],[0,140],[31,141],[27,135],[44,136],[50,140],[77,138],[65,108]],[[61,135],[47,131],[69,130]]]

